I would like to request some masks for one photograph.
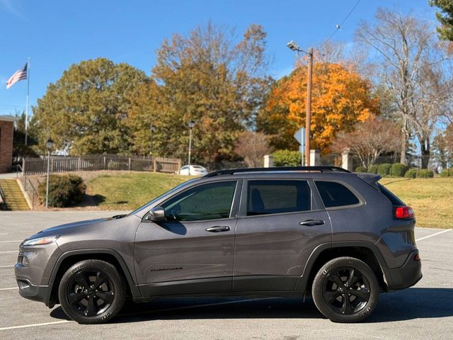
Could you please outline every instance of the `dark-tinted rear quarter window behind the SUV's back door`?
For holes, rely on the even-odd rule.
[[[343,186],[343,184],[325,181],[315,181],[315,183],[326,208],[360,203],[357,196]]]

